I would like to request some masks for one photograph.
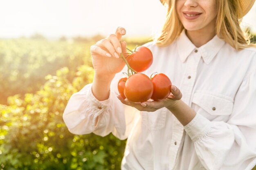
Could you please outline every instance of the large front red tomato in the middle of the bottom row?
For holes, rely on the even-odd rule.
[[[153,94],[153,83],[150,78],[142,73],[137,73],[128,77],[124,95],[131,102],[145,102]]]

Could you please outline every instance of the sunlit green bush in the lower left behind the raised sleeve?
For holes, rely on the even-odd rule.
[[[67,67],[36,92],[0,105],[0,166],[3,170],[120,169],[126,141],[113,135],[73,135],[62,113],[67,100],[92,82],[93,68],[80,66],[70,82]]]

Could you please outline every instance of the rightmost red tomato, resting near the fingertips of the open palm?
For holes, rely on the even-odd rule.
[[[164,100],[171,93],[171,80],[163,73],[155,74],[151,81],[154,86],[154,92],[151,99],[155,101]]]

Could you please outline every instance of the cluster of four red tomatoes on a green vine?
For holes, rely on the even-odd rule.
[[[153,54],[150,49],[140,46],[126,59],[128,77],[122,77],[118,82],[118,91],[121,97],[127,98],[131,102],[145,102],[150,98],[161,101],[170,95],[172,84],[165,74],[157,73],[149,78],[141,73],[153,63]],[[135,74],[130,75],[129,69]]]

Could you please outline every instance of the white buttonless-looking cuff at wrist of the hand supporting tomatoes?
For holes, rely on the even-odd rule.
[[[211,121],[198,113],[191,120],[191,122],[189,122],[189,124],[184,126],[184,130],[194,142],[204,137],[210,128]]]

